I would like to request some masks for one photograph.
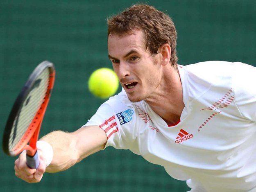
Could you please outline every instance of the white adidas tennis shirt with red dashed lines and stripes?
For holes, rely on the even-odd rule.
[[[224,61],[178,68],[185,108],[176,125],[122,90],[85,126],[100,126],[106,147],[162,165],[191,191],[256,191],[256,68]]]

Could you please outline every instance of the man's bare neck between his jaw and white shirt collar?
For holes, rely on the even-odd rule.
[[[180,120],[185,105],[179,71],[174,66],[163,71],[161,84],[145,101],[167,124]]]

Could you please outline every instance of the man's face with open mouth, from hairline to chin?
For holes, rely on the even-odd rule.
[[[161,63],[158,55],[153,57],[146,52],[143,32],[109,36],[108,50],[113,69],[130,101],[154,96],[161,81]]]

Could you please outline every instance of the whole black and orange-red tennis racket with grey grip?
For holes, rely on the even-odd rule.
[[[40,63],[21,89],[9,114],[2,140],[4,152],[16,156],[27,150],[26,163],[37,169],[36,142],[55,79],[54,65]]]

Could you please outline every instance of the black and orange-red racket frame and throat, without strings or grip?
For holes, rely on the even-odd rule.
[[[29,124],[27,130],[23,134],[22,138],[20,141],[13,147],[13,149],[9,149],[9,139],[11,135],[11,129],[13,127],[13,124],[15,122],[16,116],[18,115],[21,107],[23,106],[23,103],[27,99],[27,96],[33,87],[36,78],[45,70],[45,68],[48,68],[49,70],[49,83],[48,83],[48,88],[44,97],[44,101],[41,104],[41,107],[39,110],[36,112],[36,115],[34,116],[33,120]],[[18,155],[21,151],[27,150],[27,155],[28,156],[34,156],[36,154],[36,142],[39,137],[39,131],[41,128],[41,124],[43,121],[43,117],[50,99],[50,95],[52,92],[52,88],[54,85],[54,79],[55,79],[55,68],[52,63],[49,61],[44,61],[40,63],[32,72],[32,74],[29,76],[27,82],[23,86],[22,90],[20,91],[18,97],[16,98],[16,101],[14,102],[14,105],[11,109],[11,112],[9,114],[6,126],[5,126],[5,131],[3,134],[3,142],[2,142],[2,147],[4,152],[9,155],[9,156],[16,156]],[[29,145],[28,145],[29,143]]]

